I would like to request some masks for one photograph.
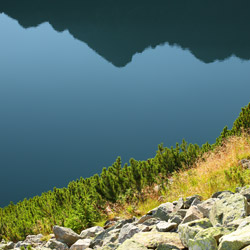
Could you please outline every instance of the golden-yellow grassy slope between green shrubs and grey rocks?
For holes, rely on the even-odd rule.
[[[141,216],[157,205],[199,194],[208,199],[222,190],[235,191],[236,187],[250,184],[250,170],[239,161],[250,159],[250,136],[232,136],[222,146],[199,158],[192,168],[175,172],[165,190],[146,191],[146,200],[118,206],[111,216]],[[164,198],[163,198],[164,197]]]

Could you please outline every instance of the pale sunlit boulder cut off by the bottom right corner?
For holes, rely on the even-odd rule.
[[[248,245],[250,245],[250,225],[223,236],[218,250],[240,250]]]

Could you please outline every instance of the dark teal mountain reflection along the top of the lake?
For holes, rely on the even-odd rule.
[[[6,0],[0,12],[25,28],[67,29],[118,67],[166,42],[205,63],[250,58],[249,0]]]

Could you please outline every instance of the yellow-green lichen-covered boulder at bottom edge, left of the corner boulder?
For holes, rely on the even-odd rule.
[[[219,239],[226,234],[232,233],[233,229],[223,227],[210,227],[200,231],[194,239],[188,241],[189,250],[217,250]]]

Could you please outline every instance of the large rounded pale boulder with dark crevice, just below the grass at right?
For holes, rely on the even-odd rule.
[[[220,195],[218,196],[220,197]],[[215,225],[227,225],[230,222],[247,216],[247,200],[240,194],[230,194],[216,200],[212,206],[209,219]]]

